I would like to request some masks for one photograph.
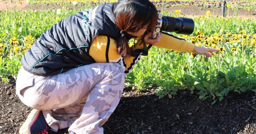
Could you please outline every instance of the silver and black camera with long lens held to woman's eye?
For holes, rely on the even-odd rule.
[[[157,33],[160,31],[176,32],[177,34],[192,34],[195,28],[195,23],[190,18],[185,17],[169,17],[163,16],[161,11],[158,11],[157,26],[154,30],[153,39],[157,38]]]

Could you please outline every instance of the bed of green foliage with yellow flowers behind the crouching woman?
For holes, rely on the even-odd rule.
[[[56,14],[56,10],[2,11],[0,13],[1,80],[6,80],[8,76],[17,76],[21,57],[29,47],[26,37],[31,35],[37,40],[44,31],[61,19],[87,8],[80,6],[80,9],[69,10],[63,7],[61,14]],[[177,14],[172,12],[162,11],[162,13],[177,17]],[[205,58],[203,55],[192,57],[189,53],[152,47],[148,56],[142,57],[133,71],[128,74],[125,84],[138,90],[149,88],[151,84],[157,85],[159,98],[172,97],[179,89],[190,90],[191,93],[196,91],[202,100],[212,98],[212,104],[222,100],[230,91],[256,92],[256,47],[253,46],[253,40],[256,38],[256,21],[253,18],[206,16],[192,17],[192,19],[195,21],[195,30],[187,38],[188,41],[192,40],[190,37],[198,37],[197,32],[201,31],[205,37],[212,40],[221,38],[221,41],[209,44],[214,44],[214,47],[223,48],[225,51],[215,54],[214,57]],[[230,32],[231,35],[226,35],[226,32]],[[17,43],[12,45],[10,40],[14,38],[17,39]],[[224,41],[226,38],[230,42]],[[30,41],[32,40],[30,38]],[[195,43],[204,46],[205,40],[195,40]],[[237,51],[233,52],[231,48],[236,48]]]

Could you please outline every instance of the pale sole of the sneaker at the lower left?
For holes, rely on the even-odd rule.
[[[20,134],[31,134],[30,127],[34,124],[35,120],[38,118],[40,114],[40,110],[33,109],[29,116],[27,117],[26,121],[20,127],[19,133]]]

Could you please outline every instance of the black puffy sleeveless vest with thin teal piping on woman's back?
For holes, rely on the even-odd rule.
[[[49,76],[95,63],[89,49],[99,35],[114,40],[120,36],[113,3],[81,11],[52,26],[22,57],[22,66],[32,74]]]

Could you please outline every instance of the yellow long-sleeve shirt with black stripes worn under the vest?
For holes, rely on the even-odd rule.
[[[191,53],[195,47],[194,44],[189,43],[185,39],[175,37],[171,34],[161,32],[161,35],[162,37],[160,41],[153,46],[178,51],[186,51],[189,53]],[[141,40],[137,41],[135,46],[131,46],[131,50],[142,49],[143,43],[139,45],[140,43]],[[134,68],[137,61],[140,60],[140,56],[122,57],[121,55],[117,54],[116,41],[107,36],[95,37],[90,46],[89,54],[97,63],[118,63],[124,68],[125,74],[128,74],[132,68]]]

